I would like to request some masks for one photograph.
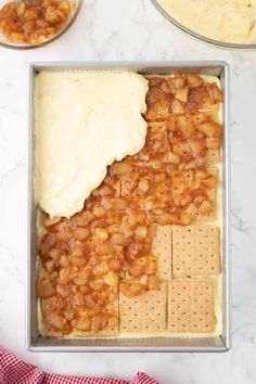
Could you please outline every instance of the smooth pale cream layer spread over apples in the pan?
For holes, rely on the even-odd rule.
[[[35,201],[71,217],[107,165],[139,152],[148,80],[132,72],[41,72],[35,86]]]

